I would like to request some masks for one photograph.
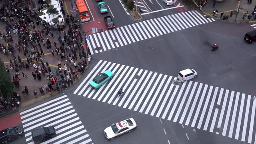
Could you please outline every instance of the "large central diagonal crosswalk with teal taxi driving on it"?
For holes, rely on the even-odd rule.
[[[105,70],[114,78],[92,89],[89,82]],[[255,96],[191,80],[175,85],[173,80],[177,78],[100,60],[74,94],[256,144]],[[124,94],[117,98],[121,88]]]

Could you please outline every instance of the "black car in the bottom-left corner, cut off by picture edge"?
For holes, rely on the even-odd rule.
[[[0,132],[0,144],[8,144],[17,138],[21,138],[23,134],[23,130],[19,126],[6,128]]]

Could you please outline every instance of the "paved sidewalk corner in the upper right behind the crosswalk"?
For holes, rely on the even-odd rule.
[[[208,16],[214,17],[216,19],[220,19],[220,14],[224,12],[224,15],[228,15],[228,22],[237,22],[237,23],[247,23],[248,18],[244,18],[242,20],[242,17],[246,11],[248,11],[248,14],[251,14],[254,10],[254,6],[256,5],[256,1],[252,0],[252,4],[247,4],[247,0],[240,1],[240,9],[236,17],[236,12],[238,8],[238,0],[224,0],[223,2],[216,2],[215,7],[213,7],[213,0],[208,0],[207,4],[203,6],[202,12]],[[212,16],[213,10],[218,10],[217,16]],[[230,13],[233,12],[232,18],[230,18]],[[256,21],[252,21],[252,18],[250,19],[250,23],[254,23]]]

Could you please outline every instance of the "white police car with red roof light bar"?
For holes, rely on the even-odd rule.
[[[131,132],[132,129],[136,128],[137,124],[133,118],[129,118],[127,120],[123,120],[112,126],[106,128],[104,130],[104,135],[107,139],[113,139],[116,136],[120,136],[125,134],[126,132]]]

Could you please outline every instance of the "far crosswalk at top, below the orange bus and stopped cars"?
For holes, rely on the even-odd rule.
[[[87,40],[87,44],[91,54],[97,54],[212,21],[215,20],[213,18],[205,18],[197,11],[181,12],[92,34],[90,35],[90,40]]]

